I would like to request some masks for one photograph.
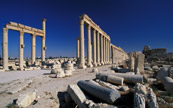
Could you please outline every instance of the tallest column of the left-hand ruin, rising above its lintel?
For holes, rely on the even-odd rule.
[[[41,59],[42,59],[42,61],[45,61],[46,19],[42,19],[42,23],[43,23],[42,24],[42,29],[43,29],[43,32],[44,32],[44,36],[42,37]]]

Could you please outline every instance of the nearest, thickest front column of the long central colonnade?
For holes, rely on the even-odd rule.
[[[84,54],[84,21],[80,20],[79,22],[79,26],[80,26],[80,65],[79,68],[81,69],[85,69],[85,54]]]

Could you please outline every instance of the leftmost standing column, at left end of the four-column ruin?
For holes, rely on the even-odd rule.
[[[3,68],[8,70],[8,29],[3,28]]]

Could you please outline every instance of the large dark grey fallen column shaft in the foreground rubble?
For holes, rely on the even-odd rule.
[[[79,81],[77,84],[89,94],[110,104],[120,97],[120,93],[117,90],[101,87],[83,80]]]

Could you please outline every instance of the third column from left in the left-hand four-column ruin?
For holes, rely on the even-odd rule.
[[[32,34],[32,64],[35,63],[35,51],[36,51],[36,42],[35,42],[35,34]]]

